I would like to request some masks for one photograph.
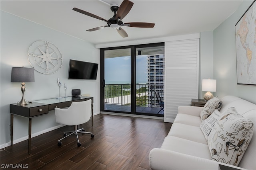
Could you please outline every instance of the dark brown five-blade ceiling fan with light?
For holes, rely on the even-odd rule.
[[[96,31],[99,29],[103,29],[105,27],[112,27],[117,30],[117,32],[122,36],[122,37],[128,37],[128,34],[124,29],[121,28],[121,26],[127,26],[127,27],[141,27],[141,28],[153,28],[154,23],[148,23],[148,22],[128,22],[128,23],[123,23],[122,19],[130,12],[131,8],[133,6],[133,2],[129,0],[124,0],[120,6],[114,4],[110,7],[111,11],[114,12],[114,16],[110,18],[109,20],[105,20],[104,18],[101,18],[99,16],[96,16],[94,14],[91,14],[89,12],[86,12],[84,10],[80,10],[78,8],[73,8],[74,11],[80,12],[81,14],[90,16],[92,18],[96,18],[98,20],[105,21],[107,25],[101,26],[101,27],[96,27],[92,29],[88,29],[86,31]]]

